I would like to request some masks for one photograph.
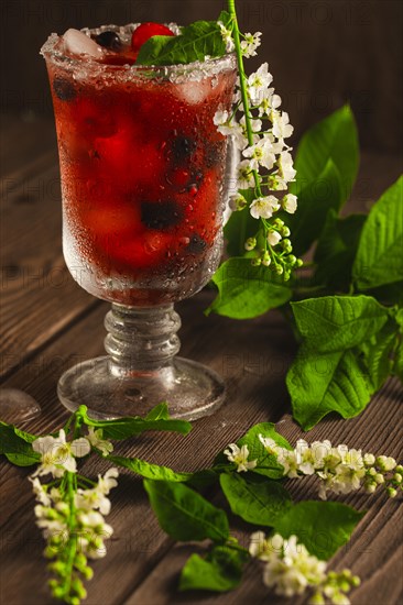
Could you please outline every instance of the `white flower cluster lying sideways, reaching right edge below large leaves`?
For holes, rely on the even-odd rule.
[[[362,454],[361,450],[340,444],[336,448],[330,441],[315,441],[311,446],[299,439],[294,450],[280,448],[273,439],[259,436],[269,453],[276,455],[284,468],[284,475],[297,479],[316,475],[320,480],[319,497],[326,499],[327,492],[348,494],[361,486],[372,493],[383,485],[390,497],[402,488],[403,466],[397,466],[393,458]]]

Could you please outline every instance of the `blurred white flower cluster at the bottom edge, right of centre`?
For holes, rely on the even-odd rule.
[[[296,536],[284,539],[275,534],[268,539],[257,531],[251,536],[249,552],[264,562],[263,582],[281,596],[299,595],[311,588],[311,603],[322,604],[327,597],[336,605],[347,605],[346,593],[360,583],[349,570],[326,572],[326,563],[309,554]]]

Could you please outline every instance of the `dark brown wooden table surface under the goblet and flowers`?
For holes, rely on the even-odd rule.
[[[2,386],[30,393],[42,415],[21,425],[45,433],[59,428],[67,414],[57,400],[62,372],[78,361],[101,354],[102,319],[108,305],[79,288],[65,268],[61,242],[58,165],[53,122],[6,117],[2,129]],[[363,155],[356,204],[366,207],[400,172],[396,157]],[[402,460],[402,386],[391,380],[358,418],[329,417],[308,435],[290,416],[284,377],[295,354],[287,326],[276,312],[249,321],[203,315],[211,299],[203,292],[177,305],[183,319],[182,355],[206,363],[225,376],[228,397],[222,408],[194,424],[188,437],[149,433],[122,449],[127,455],[163,463],[178,471],[205,468],[214,455],[259,421],[277,422],[292,443],[305,437],[330,439]],[[217,338],[219,334],[219,338]],[[96,475],[107,463],[87,463]],[[30,470],[1,461],[1,605],[46,604],[44,542],[34,524]],[[293,497],[316,498],[311,480],[290,482]],[[89,605],[165,605],[203,603],[241,605],[247,601],[286,603],[270,593],[257,566],[248,568],[241,587],[211,595],[176,592],[178,572],[196,544],[175,544],[159,527],[140,479],[122,472],[112,493],[108,522],[115,528],[106,559],[94,564]],[[350,568],[361,578],[353,605],[397,605],[403,598],[402,515],[400,502],[382,491],[339,498],[368,513],[350,542],[331,560],[334,569]],[[221,503],[217,493],[216,501]],[[241,543],[247,532],[237,519],[231,527]],[[304,600],[292,600],[304,603]]]

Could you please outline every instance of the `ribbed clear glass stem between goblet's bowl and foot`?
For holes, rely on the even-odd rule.
[[[173,305],[144,308],[113,304],[105,327],[109,371],[117,377],[167,367],[181,349],[176,336],[181,318]]]

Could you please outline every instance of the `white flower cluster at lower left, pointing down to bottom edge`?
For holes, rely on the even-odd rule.
[[[88,559],[106,556],[105,540],[113,530],[105,521],[111,508],[109,492],[118,484],[117,469],[109,469],[94,482],[77,473],[77,458],[95,448],[102,455],[112,451],[112,444],[102,439],[100,430],[89,428],[87,437],[66,440],[62,429],[58,437],[41,437],[32,448],[41,454],[41,463],[30,481],[36,497],[36,525],[47,541],[45,556],[52,560],[48,568],[55,578],[50,581],[54,597],[77,605],[85,598],[83,579],[89,580],[92,570]],[[40,479],[51,474],[51,483]]]

